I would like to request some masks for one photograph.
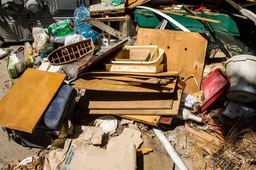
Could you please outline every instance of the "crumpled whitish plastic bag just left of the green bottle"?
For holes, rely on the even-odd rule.
[[[33,47],[37,50],[45,48],[45,43],[49,41],[49,35],[44,32],[44,29],[34,27],[32,34],[34,38]]]

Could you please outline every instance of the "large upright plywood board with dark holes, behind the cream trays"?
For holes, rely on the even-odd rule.
[[[184,78],[194,75],[200,85],[207,39],[207,34],[196,32],[139,28],[136,45],[158,45],[165,52],[164,71],[178,71]],[[189,94],[198,92],[194,79],[186,81],[185,91]]]

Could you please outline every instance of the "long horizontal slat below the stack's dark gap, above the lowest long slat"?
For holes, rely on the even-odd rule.
[[[89,109],[172,109],[173,100],[89,101]]]

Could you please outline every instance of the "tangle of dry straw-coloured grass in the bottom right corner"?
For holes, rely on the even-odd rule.
[[[248,125],[247,119],[235,118],[227,126],[226,140],[219,147],[202,143],[217,151],[217,157],[209,156],[201,147],[194,144],[191,160],[195,170],[208,170],[221,167],[226,170],[256,170],[256,133]]]

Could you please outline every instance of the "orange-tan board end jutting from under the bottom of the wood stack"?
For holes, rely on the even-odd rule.
[[[126,119],[135,120],[137,122],[146,123],[148,125],[158,126],[161,116],[148,116],[148,115],[121,115]]]

